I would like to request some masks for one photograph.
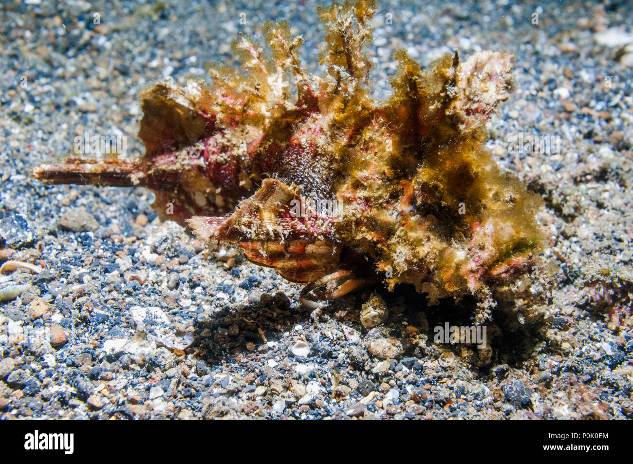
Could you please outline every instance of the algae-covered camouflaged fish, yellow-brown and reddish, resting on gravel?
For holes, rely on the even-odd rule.
[[[240,37],[242,72],[210,86],[142,94],[141,158],[42,165],[47,184],[143,186],[161,218],[334,299],[367,284],[412,284],[429,300],[474,294],[530,271],[542,201],[501,173],[486,120],[508,98],[512,56],[455,51],[422,70],[397,51],[386,101],[370,95],[373,1],[318,13],[327,73],[301,67],[303,38],[266,23]],[[482,317],[478,316],[478,320]]]

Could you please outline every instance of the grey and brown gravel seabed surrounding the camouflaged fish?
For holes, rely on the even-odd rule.
[[[316,72],[315,2],[5,2],[0,262],[44,270],[0,275],[0,418],[631,418],[633,12],[593,5],[377,11],[377,96],[398,48],[423,65],[454,47],[516,56],[488,146],[546,201],[546,265],[533,301],[499,297],[477,349],[434,342],[437,325],[472,325],[469,299],[428,307],[411,289],[372,289],[308,310],[273,270],[160,223],[150,192],[30,179],[86,130],[142,153],[139,91],[234,65],[232,39],[268,18],[304,34]],[[515,153],[519,134],[558,137],[560,151]]]

